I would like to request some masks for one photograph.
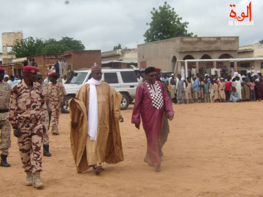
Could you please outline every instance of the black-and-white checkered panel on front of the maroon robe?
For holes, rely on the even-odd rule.
[[[148,84],[146,86],[151,95],[151,101],[154,109],[161,109],[164,105],[163,95],[159,83],[156,81],[155,84]]]

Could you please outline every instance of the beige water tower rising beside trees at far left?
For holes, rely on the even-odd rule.
[[[2,50],[3,54],[6,55],[8,52],[8,47],[13,49],[13,45],[16,40],[22,40],[23,33],[22,31],[18,32],[6,32],[2,33]]]

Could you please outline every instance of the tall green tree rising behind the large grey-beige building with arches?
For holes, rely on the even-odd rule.
[[[159,6],[159,10],[153,8],[151,15],[152,21],[150,24],[146,23],[146,25],[150,25],[150,28],[143,35],[146,38],[145,43],[174,37],[193,36],[193,33],[187,32],[189,23],[181,22],[182,17],[178,17],[174,8],[171,8],[167,2],[164,2],[163,6]]]

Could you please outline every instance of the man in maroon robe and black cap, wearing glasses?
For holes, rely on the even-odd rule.
[[[171,121],[174,118],[174,110],[162,82],[156,81],[155,68],[148,67],[144,72],[147,80],[136,89],[132,123],[140,129],[142,120],[147,138],[147,152],[144,162],[149,166],[155,166],[155,171],[160,172],[161,159],[158,153],[158,139],[161,135],[164,114]]]

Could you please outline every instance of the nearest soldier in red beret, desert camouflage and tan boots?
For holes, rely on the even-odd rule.
[[[42,124],[45,120],[45,98],[40,84],[36,82],[37,71],[34,66],[25,66],[24,80],[12,87],[9,121],[15,137],[18,138],[22,166],[27,173],[25,185],[42,188],[44,184],[40,180],[40,172],[42,135],[46,132]]]

